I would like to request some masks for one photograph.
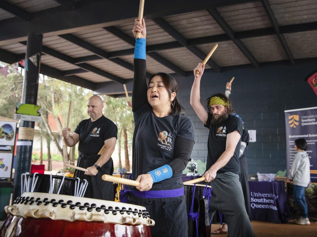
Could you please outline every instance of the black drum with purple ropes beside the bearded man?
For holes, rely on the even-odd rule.
[[[210,236],[208,205],[211,186],[184,184],[184,194],[187,206],[188,237]]]

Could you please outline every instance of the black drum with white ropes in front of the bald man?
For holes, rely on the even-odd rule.
[[[65,176],[23,173],[21,175],[21,193],[44,192],[83,197],[87,188],[86,179],[74,179]]]

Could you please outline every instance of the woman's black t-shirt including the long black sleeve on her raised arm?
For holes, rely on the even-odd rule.
[[[132,175],[134,180],[140,174],[146,174],[174,159],[174,143],[177,136],[192,141],[195,140],[195,128],[190,118],[181,114],[168,115],[162,118],[154,115],[152,107],[147,102],[145,72],[146,61],[134,59],[134,134],[132,149]],[[181,175],[182,172],[178,172],[169,179],[154,183],[151,190],[182,188]],[[136,190],[135,187],[131,188]]]

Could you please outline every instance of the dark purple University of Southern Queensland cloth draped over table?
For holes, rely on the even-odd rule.
[[[252,220],[280,224],[291,219],[284,181],[249,181],[249,188]]]

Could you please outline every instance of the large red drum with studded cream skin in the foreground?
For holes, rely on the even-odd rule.
[[[142,206],[37,192],[24,192],[5,211],[1,237],[151,236],[155,223]]]

